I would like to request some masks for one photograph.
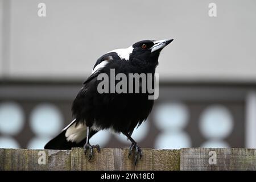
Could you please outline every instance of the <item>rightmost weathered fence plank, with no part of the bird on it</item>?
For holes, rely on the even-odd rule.
[[[180,169],[256,170],[256,150],[249,148],[182,148]]]

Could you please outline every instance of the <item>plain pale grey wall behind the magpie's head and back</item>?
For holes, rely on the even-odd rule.
[[[105,52],[174,38],[160,57],[160,79],[256,81],[255,9],[253,0],[0,0],[0,77],[82,79]]]

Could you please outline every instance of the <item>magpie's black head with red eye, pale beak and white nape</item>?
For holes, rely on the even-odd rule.
[[[133,46],[123,49],[115,49],[110,52],[116,52],[122,60],[130,61],[136,65],[158,65],[160,51],[174,39],[165,40],[142,40]]]

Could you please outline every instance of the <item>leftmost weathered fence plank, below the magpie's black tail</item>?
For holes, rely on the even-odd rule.
[[[0,149],[0,170],[70,170],[71,152]]]

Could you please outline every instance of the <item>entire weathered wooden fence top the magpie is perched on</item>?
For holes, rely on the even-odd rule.
[[[94,150],[88,161],[83,148],[27,150],[0,148],[0,170],[255,170],[256,150],[248,148],[143,148],[134,166],[127,148]]]

